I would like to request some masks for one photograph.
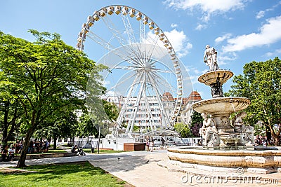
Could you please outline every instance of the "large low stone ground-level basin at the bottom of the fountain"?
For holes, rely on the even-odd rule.
[[[226,172],[243,167],[245,172],[272,173],[280,171],[281,151],[204,150],[181,146],[168,148],[172,163],[206,171]]]

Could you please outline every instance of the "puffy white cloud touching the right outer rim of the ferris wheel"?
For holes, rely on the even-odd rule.
[[[173,29],[170,32],[164,32],[164,34],[171,42],[171,46],[173,46],[178,57],[183,57],[189,53],[192,44],[188,42],[188,37],[183,31],[179,32],[176,29]]]

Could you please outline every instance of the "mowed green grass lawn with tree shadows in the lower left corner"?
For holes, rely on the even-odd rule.
[[[130,186],[89,162],[34,165],[24,170],[1,170],[0,186]]]

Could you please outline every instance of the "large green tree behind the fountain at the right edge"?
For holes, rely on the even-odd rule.
[[[245,111],[244,122],[248,125],[263,124],[268,139],[280,144],[281,132],[281,61],[278,57],[266,62],[250,62],[244,65],[242,75],[235,76],[226,95],[247,97],[251,104]]]

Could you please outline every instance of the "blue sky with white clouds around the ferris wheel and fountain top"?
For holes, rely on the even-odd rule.
[[[248,62],[266,61],[281,53],[281,1],[273,0],[10,0],[1,1],[0,30],[29,41],[34,38],[28,29],[56,32],[76,46],[87,17],[111,4],[136,8],[157,23],[188,69],[193,89],[204,99],[211,93],[197,78],[208,69],[203,62],[207,44],[218,51],[219,67],[235,75],[242,74]],[[97,61],[101,56],[89,57]],[[223,90],[231,84],[228,81]]]

